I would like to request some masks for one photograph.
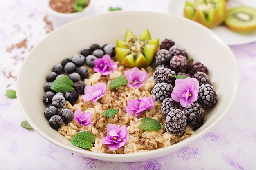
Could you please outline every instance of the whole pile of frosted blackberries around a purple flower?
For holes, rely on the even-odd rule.
[[[203,110],[216,104],[217,94],[211,86],[208,69],[204,64],[193,59],[188,60],[186,50],[175,43],[168,49],[168,54],[165,48],[168,39],[162,43],[162,48],[156,56],[156,70],[153,73],[156,85],[151,92],[155,101],[162,102],[161,110],[166,117],[166,131],[174,135],[182,135],[186,126],[197,129],[203,124]],[[180,75],[197,79],[200,86],[197,101],[186,108],[180,106],[179,102],[173,101],[170,95],[175,86],[174,77]],[[171,84],[172,87],[167,84]]]

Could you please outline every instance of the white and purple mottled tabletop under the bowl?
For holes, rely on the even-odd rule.
[[[227,116],[201,139],[159,159],[115,163],[90,159],[64,150],[34,130],[25,120],[17,99],[4,94],[16,89],[22,61],[54,25],[47,20],[46,0],[0,2],[0,169],[4,170],[253,170],[256,169],[256,42],[231,46],[241,74],[240,90]],[[147,6],[144,3],[147,2]],[[132,5],[136,3],[136,5]],[[168,0],[96,0],[94,13],[108,7],[167,13]],[[156,5],[157,4],[157,5]],[[52,27],[53,26],[53,27]],[[227,64],[228,67],[228,64]],[[225,73],[224,73],[225,74]],[[229,75],[227,75],[229,76]],[[28,84],[29,85],[29,84]],[[230,84],[232,86],[232,84]],[[31,92],[33,93],[33,92]]]

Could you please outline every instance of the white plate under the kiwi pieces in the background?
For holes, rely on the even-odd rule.
[[[193,0],[189,0],[193,1]],[[183,8],[185,7],[186,0],[170,0],[169,2],[169,13],[174,15],[183,16]],[[228,9],[237,6],[249,6],[256,8],[255,0],[229,0],[227,2]],[[256,31],[251,33],[235,33],[230,31],[225,26],[216,26],[211,28],[213,33],[215,33],[223,42],[232,45],[247,44],[256,41]]]

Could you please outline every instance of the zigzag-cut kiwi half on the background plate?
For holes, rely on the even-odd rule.
[[[184,17],[211,28],[222,23],[227,17],[226,2],[225,0],[186,1]]]

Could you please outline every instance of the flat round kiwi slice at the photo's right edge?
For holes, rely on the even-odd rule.
[[[225,25],[235,32],[251,32],[256,30],[256,9],[252,7],[234,7],[229,9]]]

